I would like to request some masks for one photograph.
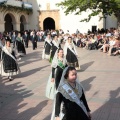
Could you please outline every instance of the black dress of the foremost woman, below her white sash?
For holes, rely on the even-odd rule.
[[[80,106],[66,99],[61,93],[56,95],[55,115],[59,115],[61,102],[63,102],[62,113],[64,114],[62,120],[90,120]]]

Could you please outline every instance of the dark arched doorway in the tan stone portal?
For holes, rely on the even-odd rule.
[[[43,29],[44,30],[55,30],[55,21],[54,19],[48,17],[43,22]]]

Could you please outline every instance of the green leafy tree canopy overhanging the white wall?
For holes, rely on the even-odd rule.
[[[91,10],[88,17],[81,20],[81,22],[88,22],[92,16],[100,13],[103,15],[101,18],[112,14],[115,14],[116,17],[120,16],[120,0],[64,0],[56,5],[61,6],[66,15],[73,12],[75,15],[80,15],[88,9]]]

